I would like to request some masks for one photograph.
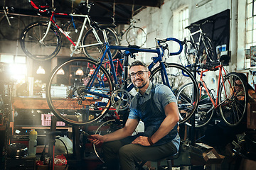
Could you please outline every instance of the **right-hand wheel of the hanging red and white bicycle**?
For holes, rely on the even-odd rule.
[[[107,41],[109,42],[110,45],[119,45],[119,40],[117,38],[117,35],[113,32],[113,30],[111,30],[110,28],[107,28],[106,33],[107,33]],[[105,40],[103,37],[102,30],[97,30],[97,35],[99,35],[101,42],[104,43]],[[88,47],[83,47],[83,51],[85,52],[85,55],[92,60],[97,60],[98,58],[102,57],[103,52],[105,52],[105,45],[103,44],[94,45],[97,43],[98,42],[95,38],[95,35],[92,33],[92,28],[90,30],[87,30],[84,38],[82,39],[82,45],[90,45]],[[110,50],[110,52],[112,55],[112,59],[114,59],[117,55],[117,50]]]

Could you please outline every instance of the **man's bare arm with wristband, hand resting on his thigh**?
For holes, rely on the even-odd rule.
[[[174,128],[176,123],[178,123],[178,106],[175,102],[171,102],[164,107],[164,112],[166,113],[166,118],[161,123],[159,129],[151,136],[151,141],[156,143],[166,136]],[[148,137],[140,136],[132,142],[133,144],[139,144],[144,146],[149,146]]]

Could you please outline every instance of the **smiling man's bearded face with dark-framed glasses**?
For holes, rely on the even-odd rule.
[[[139,89],[142,89],[149,83],[150,72],[143,66],[134,66],[129,70],[132,83]]]

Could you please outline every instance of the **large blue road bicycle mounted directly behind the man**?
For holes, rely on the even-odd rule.
[[[192,83],[196,87],[196,80],[185,67],[180,64],[166,63],[162,60],[164,51],[168,49],[168,46],[165,44],[167,41],[177,42],[180,47],[178,52],[168,52],[168,55],[178,55],[181,53],[183,48],[182,42],[176,38],[156,39],[156,49],[134,46],[113,46],[106,42],[105,52],[98,61],[85,57],[76,57],[60,64],[53,69],[48,80],[46,87],[48,106],[60,120],[71,125],[86,125],[100,120],[111,106],[116,109],[117,113],[126,110],[129,107],[129,101],[132,97],[130,94],[134,87],[129,82],[128,58],[135,58],[134,54],[137,52],[149,52],[157,55],[156,57],[151,57],[152,62],[149,64],[149,70],[151,71],[150,80],[153,83],[166,84],[166,86],[169,86],[174,91],[174,94],[178,92],[180,86],[188,83]],[[110,50],[124,51],[122,52],[124,57],[122,84],[119,84],[119,80],[117,79]],[[106,55],[109,57],[112,77],[102,65]],[[87,67],[88,64],[91,68],[95,67],[92,72]],[[159,65],[153,68],[156,64]],[[65,75],[58,74],[60,69],[65,71]],[[82,74],[75,75],[78,69],[82,70]],[[97,77],[102,76],[105,77],[103,85],[97,79]],[[85,79],[87,81],[84,81]],[[60,84],[62,85],[60,86]],[[60,91],[60,89],[63,89],[63,91]],[[191,93],[194,95],[194,98],[191,98],[191,103],[185,103],[186,105],[183,105],[182,98],[192,96]],[[191,91],[183,91],[177,98],[177,103],[180,111],[184,107],[187,108],[187,118],[180,122],[184,123],[196,111],[198,105],[198,88],[191,86]]]

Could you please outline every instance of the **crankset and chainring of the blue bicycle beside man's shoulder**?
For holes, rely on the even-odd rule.
[[[125,90],[114,90],[111,94],[111,104],[118,111],[124,111],[129,107],[131,101],[130,94]]]

